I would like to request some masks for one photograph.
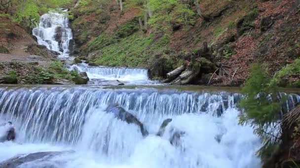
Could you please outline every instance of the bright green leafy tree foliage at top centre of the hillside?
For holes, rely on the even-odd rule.
[[[159,30],[169,31],[172,24],[190,24],[194,12],[180,0],[149,0],[147,8],[153,12],[148,24]]]

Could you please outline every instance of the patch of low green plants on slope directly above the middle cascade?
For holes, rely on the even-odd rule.
[[[103,40],[104,41],[104,40]],[[169,36],[164,35],[157,41],[153,41],[153,35],[145,36],[143,32],[120,39],[102,48],[102,55],[96,58],[96,62],[109,66],[141,66],[146,67],[153,61],[156,53],[168,48]]]

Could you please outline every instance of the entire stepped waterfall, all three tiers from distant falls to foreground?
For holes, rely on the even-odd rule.
[[[33,29],[62,60],[75,45],[65,11]],[[68,68],[90,85],[0,86],[0,168],[261,167],[260,138],[238,124],[240,93],[160,85],[143,68]],[[116,80],[131,86],[105,86]],[[286,95],[287,110],[300,102]],[[12,128],[15,140],[1,141]]]

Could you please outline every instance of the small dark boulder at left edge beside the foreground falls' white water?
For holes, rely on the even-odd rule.
[[[10,121],[0,125],[0,142],[16,139],[15,128]]]

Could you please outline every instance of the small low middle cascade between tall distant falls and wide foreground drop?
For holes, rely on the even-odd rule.
[[[86,72],[89,84],[114,84],[116,80],[124,84],[158,84],[149,79],[148,69],[144,68],[88,66],[82,63],[70,66],[69,70]]]

